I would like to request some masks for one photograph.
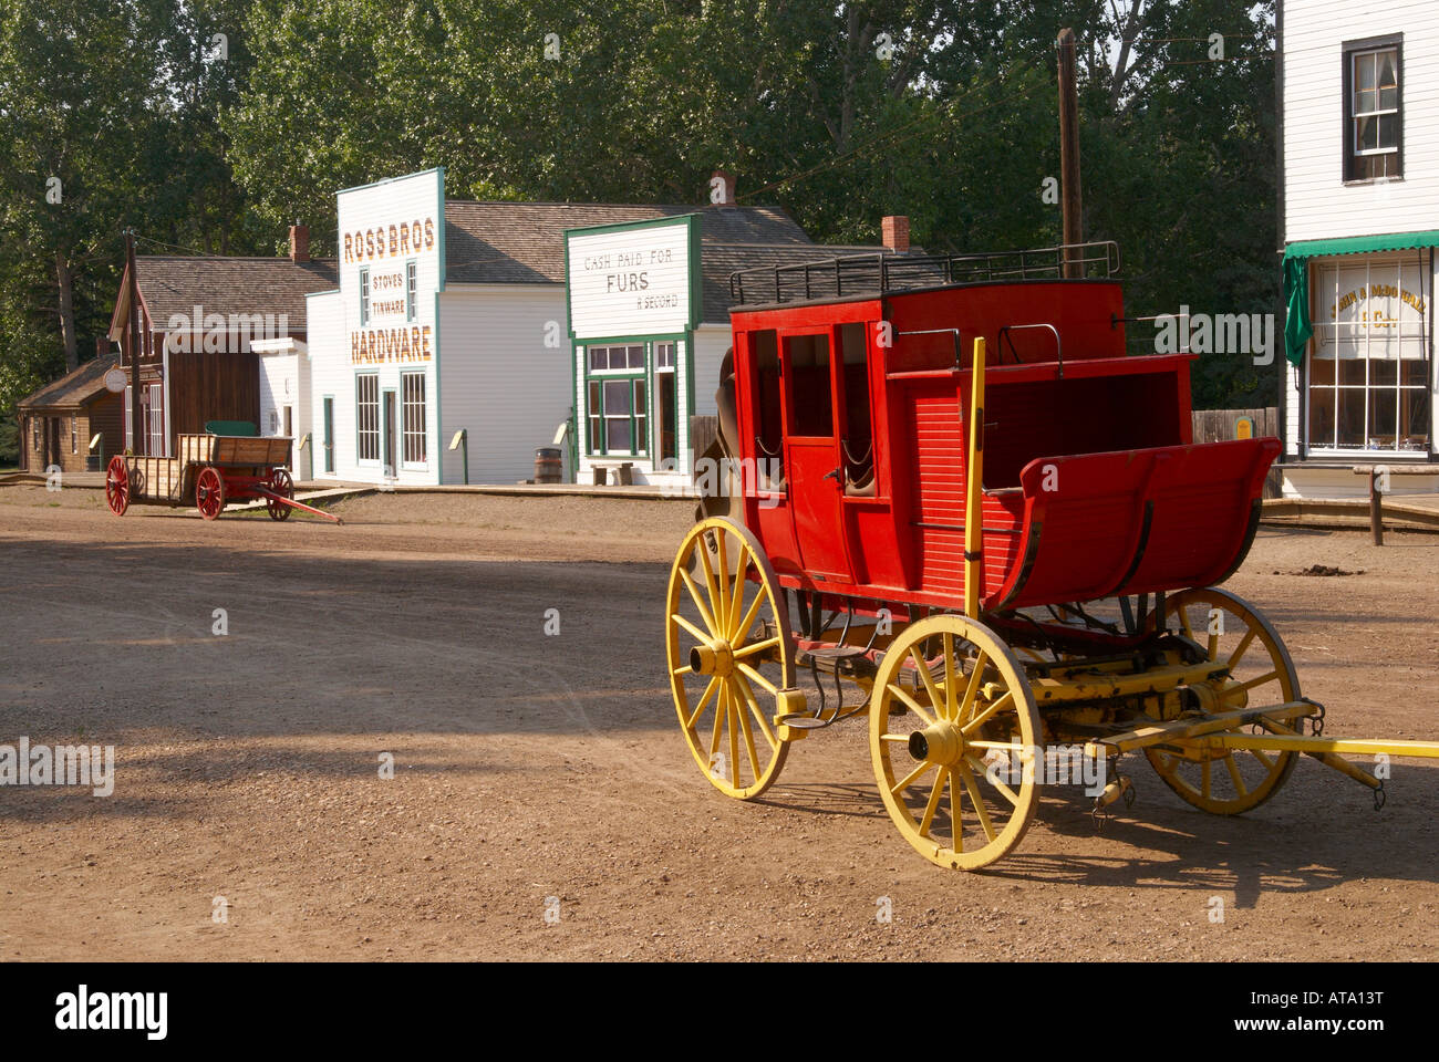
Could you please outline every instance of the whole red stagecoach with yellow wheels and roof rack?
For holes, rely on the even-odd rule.
[[[754,799],[794,744],[868,718],[899,833],[977,869],[1042,786],[1132,800],[1128,757],[1227,816],[1304,754],[1376,804],[1343,754],[1439,755],[1324,734],[1278,630],[1217,589],[1279,442],[1193,442],[1193,355],[1127,353],[1117,265],[1085,245],[734,275],[724,489],[665,607],[679,730],[718,790]]]

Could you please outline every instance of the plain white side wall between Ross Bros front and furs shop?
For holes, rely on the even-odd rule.
[[[534,476],[535,448],[570,416],[570,322],[563,285],[449,285],[439,296],[439,413],[446,484],[515,484]],[[548,345],[553,344],[553,345]],[[580,420],[583,425],[583,419]]]

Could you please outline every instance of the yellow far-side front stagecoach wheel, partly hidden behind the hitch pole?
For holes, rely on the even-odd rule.
[[[1167,599],[1164,614],[1171,630],[1177,626],[1229,669],[1230,678],[1216,685],[1219,709],[1299,698],[1299,675],[1279,632],[1242,597],[1213,587],[1183,590]],[[1258,807],[1279,791],[1299,760],[1298,753],[1258,748],[1145,748],[1144,754],[1181,800],[1212,814]]]

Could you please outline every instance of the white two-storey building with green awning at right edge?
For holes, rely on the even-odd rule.
[[[1284,489],[1357,496],[1435,459],[1439,6],[1284,0],[1279,35]]]

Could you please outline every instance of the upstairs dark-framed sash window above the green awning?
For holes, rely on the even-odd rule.
[[[1402,176],[1400,42],[1344,49],[1344,178]]]

